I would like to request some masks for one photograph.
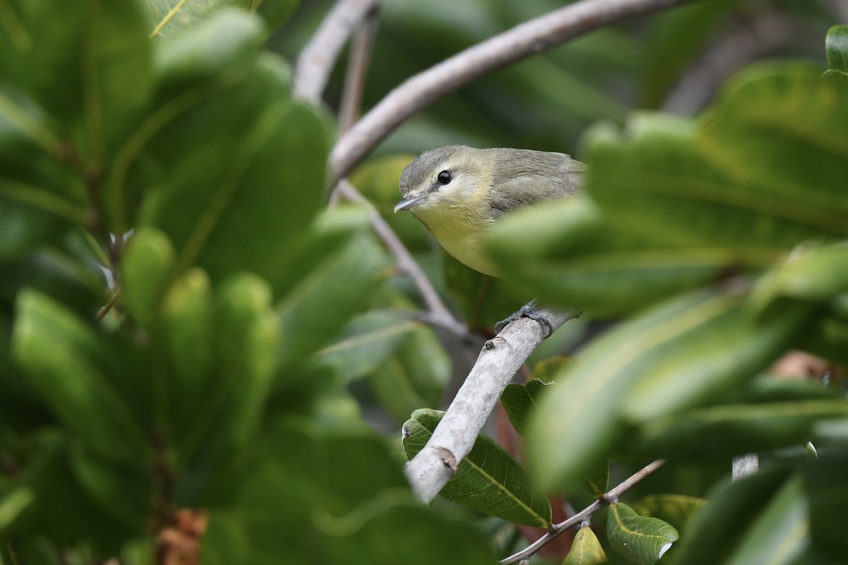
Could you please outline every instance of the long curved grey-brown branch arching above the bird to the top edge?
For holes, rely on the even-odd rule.
[[[693,1],[583,0],[469,47],[405,80],[344,134],[330,155],[330,186],[348,174],[405,119],[460,86],[618,19]]]

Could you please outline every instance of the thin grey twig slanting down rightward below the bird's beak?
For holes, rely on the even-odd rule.
[[[439,298],[436,289],[432,287],[430,280],[427,279],[427,274],[421,270],[421,267],[418,266],[415,258],[412,257],[410,252],[406,249],[406,246],[404,246],[403,241],[400,241],[398,235],[394,233],[391,226],[386,223],[386,220],[382,219],[382,216],[377,212],[377,209],[371,205],[371,202],[368,202],[368,200],[363,197],[360,192],[357,191],[356,188],[346,179],[339,182],[338,191],[349,201],[357,202],[365,206],[365,208],[368,208],[368,212],[371,214],[371,225],[373,226],[374,231],[377,232],[377,235],[380,239],[382,239],[383,243],[386,244],[389,251],[392,252],[395,258],[397,258],[398,268],[410,277],[412,282],[418,288],[418,291],[421,292],[421,297],[427,304],[427,308],[430,313],[432,313],[432,317],[438,320],[437,324],[441,327],[448,328],[457,335],[467,335],[468,330],[466,325],[455,319],[454,315],[450,313],[448,307],[446,307],[444,302],[442,302],[442,299]]]

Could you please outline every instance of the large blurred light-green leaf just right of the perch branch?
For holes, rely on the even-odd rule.
[[[578,479],[602,463],[623,432],[622,413],[642,421],[703,402],[770,363],[802,327],[795,313],[760,327],[745,317],[741,298],[692,292],[587,346],[530,429],[528,457],[542,484]]]

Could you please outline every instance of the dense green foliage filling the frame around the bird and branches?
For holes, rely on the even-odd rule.
[[[516,524],[556,519],[549,492],[588,504],[653,457],[669,463],[632,501],[534,559],[848,561],[848,42],[830,4],[594,31],[436,102],[351,175],[472,328],[529,296],[623,319],[510,385],[500,424],[526,444],[481,436],[444,490],[457,504],[432,507],[402,451],[465,346],[415,321],[368,211],[323,200],[344,64],[313,108],[291,62],[330,6],[0,0],[0,564],[492,563],[527,546]],[[384,3],[365,107],[560,7]],[[737,43],[762,21],[782,25]],[[709,105],[663,114],[692,76]],[[582,195],[492,234],[504,280],[391,213],[414,154],[463,142],[589,163]],[[790,348],[824,378],[772,374]],[[746,452],[762,471],[728,481]]]

